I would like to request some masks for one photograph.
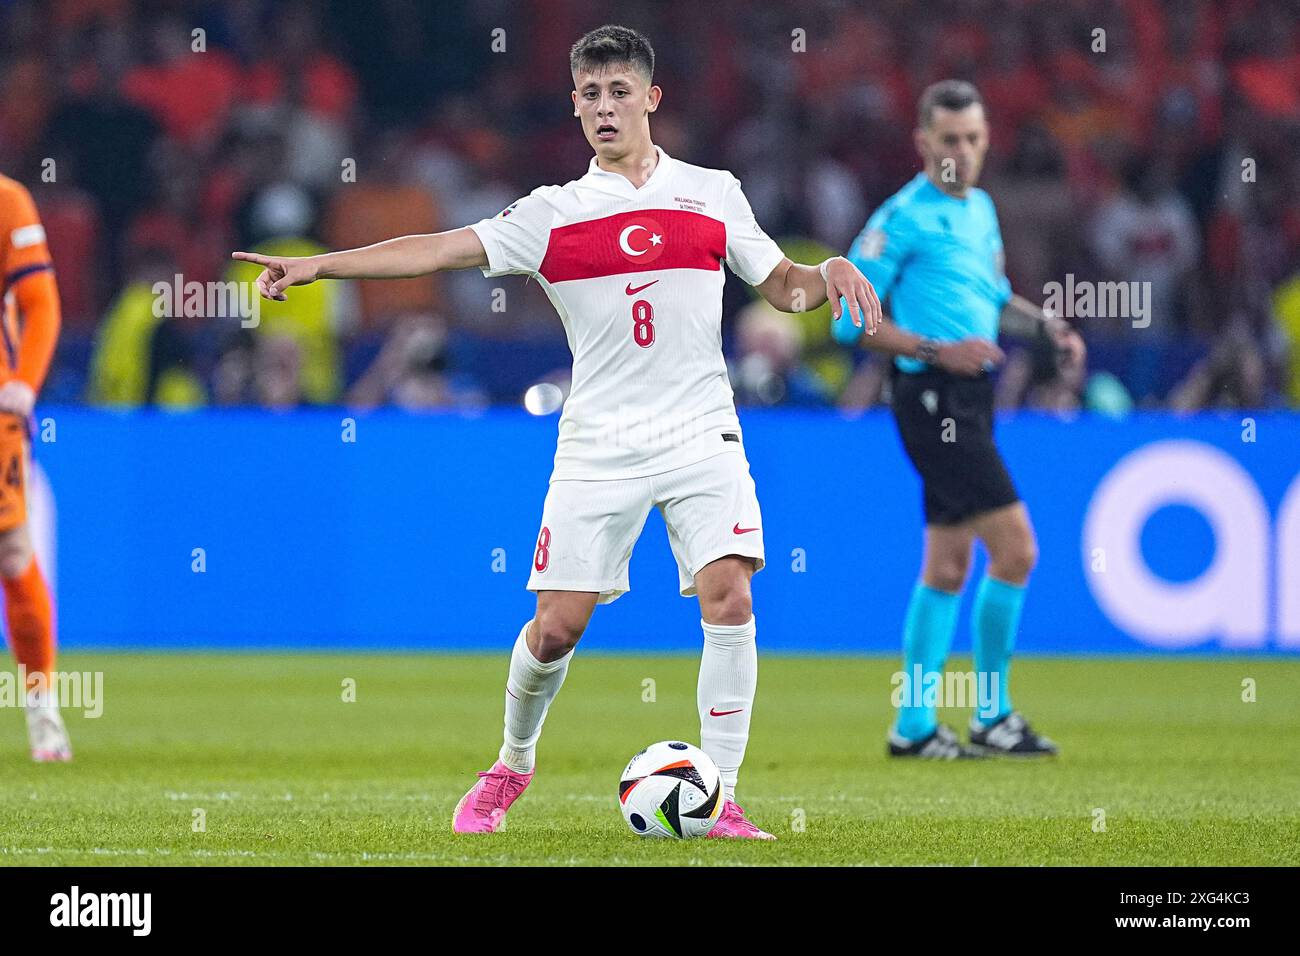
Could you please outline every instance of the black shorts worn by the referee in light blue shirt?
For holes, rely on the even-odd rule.
[[[893,415],[920,475],[926,524],[959,524],[1020,499],[993,444],[993,378],[893,372]]]

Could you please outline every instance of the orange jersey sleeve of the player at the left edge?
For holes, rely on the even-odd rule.
[[[58,289],[36,204],[22,183],[0,176],[0,289],[5,378],[39,392],[58,341]]]

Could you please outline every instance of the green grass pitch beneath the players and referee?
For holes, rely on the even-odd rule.
[[[884,756],[896,659],[764,657],[740,801],[768,844],[627,830],[627,760],[697,740],[697,661],[581,650],[508,829],[452,835],[495,757],[506,666],[69,653],[62,670],[104,672],[104,713],[69,711],[75,761],[38,766],[0,709],[0,864],[1300,864],[1300,662],[1024,658],[1017,706],[1062,756],[937,765]]]

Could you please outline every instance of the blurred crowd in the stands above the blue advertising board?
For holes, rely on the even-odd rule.
[[[655,142],[732,169],[798,261],[842,254],[916,172],[920,90],[975,82],[1017,291],[1150,289],[1144,328],[1078,321],[1088,368],[1011,347],[1004,407],[1300,406],[1300,0],[0,0],[0,172],[36,199],[64,303],[44,401],[437,408],[563,388],[563,330],[523,278],[321,282],[256,325],[185,291],[256,274],[235,248],[455,228],[577,178],[568,47],[607,21],[655,46]],[[734,277],[724,345],[744,405],[888,390],[827,310],[777,313]]]

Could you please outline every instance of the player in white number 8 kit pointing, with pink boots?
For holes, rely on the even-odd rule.
[[[302,259],[234,256],[265,267],[257,285],[273,299],[317,278],[472,267],[532,276],[564,323],[573,384],[528,581],[537,610],[511,654],[498,760],[458,804],[452,829],[497,831],[532,782],[573,646],[595,605],[628,591],[632,548],[658,507],[681,593],[699,598],[701,748],[724,788],[710,836],[774,839],[734,800],[758,683],[750,578],[763,567],[763,532],[722,351],[722,263],[786,312],[829,300],[838,315],[842,295],[854,324],[874,333],[880,302],[846,259],[786,259],[731,173],[651,142],[662,91],[645,36],[599,27],[573,46],[569,66],[573,114],[595,151],[582,178],[446,233]]]

